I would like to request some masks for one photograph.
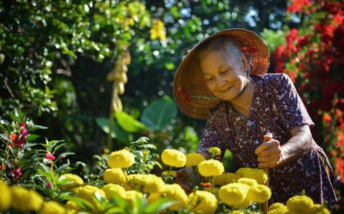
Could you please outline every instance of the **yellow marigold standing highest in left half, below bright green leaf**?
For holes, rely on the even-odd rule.
[[[134,154],[125,149],[111,152],[109,155],[108,166],[111,168],[128,168],[134,163]]]

